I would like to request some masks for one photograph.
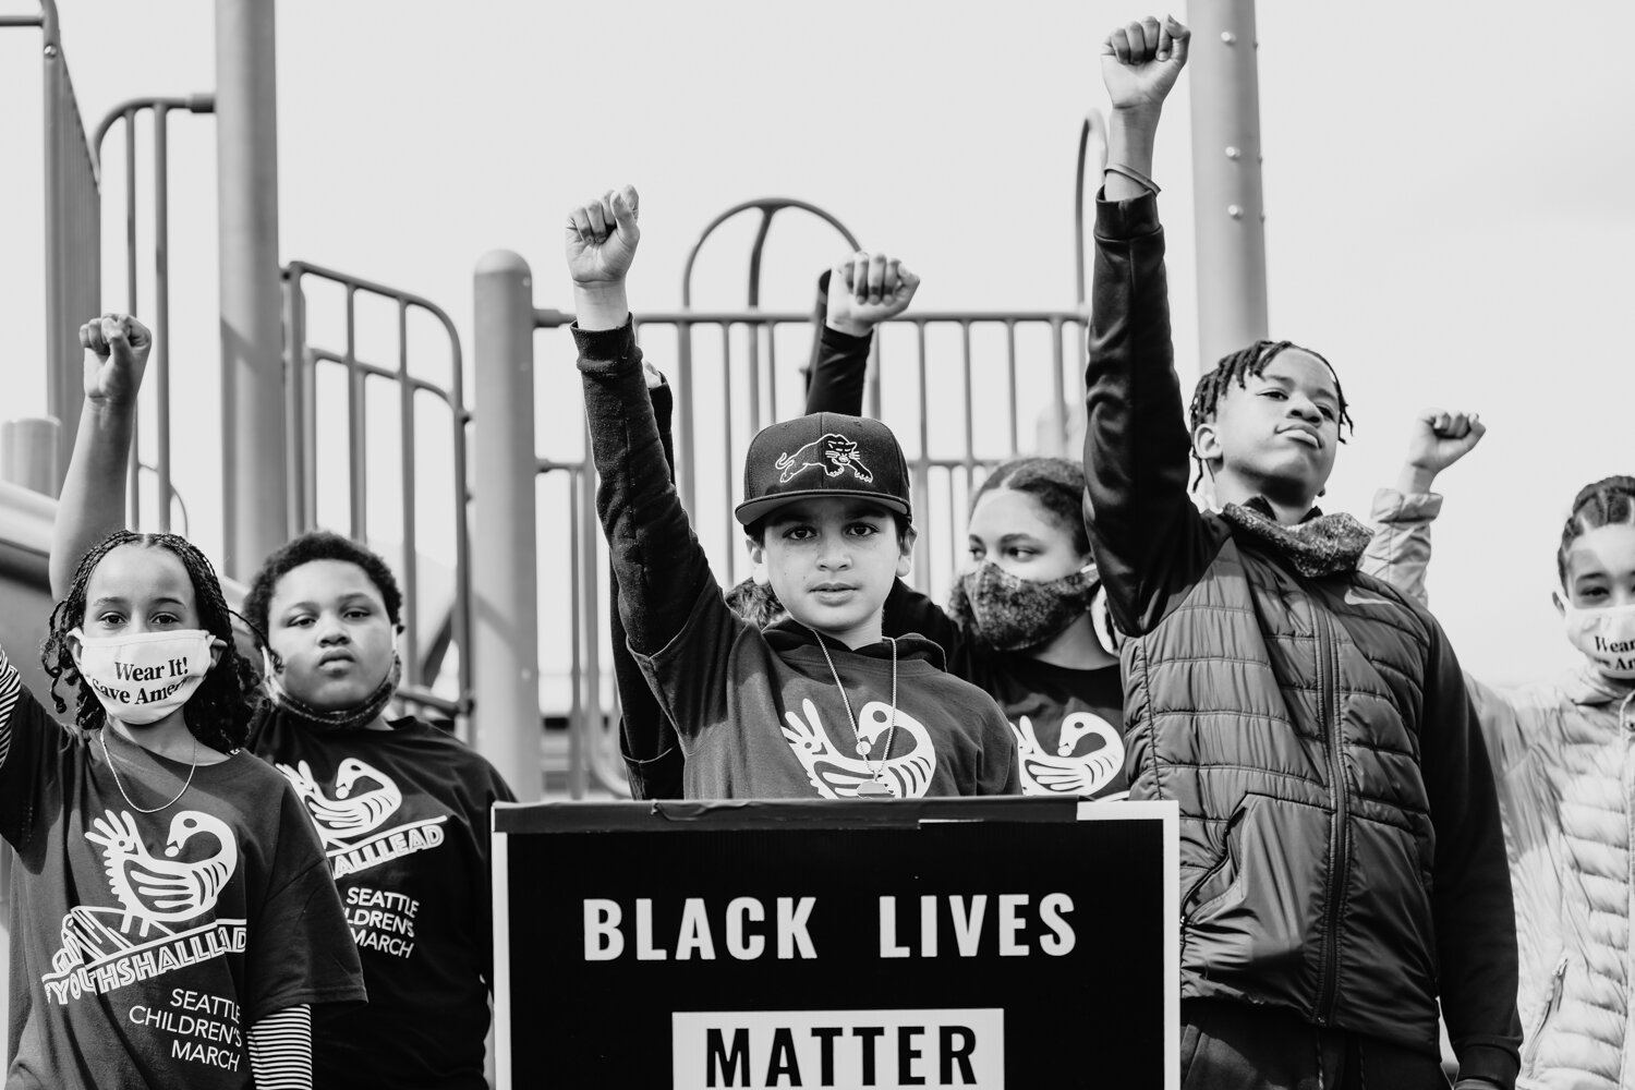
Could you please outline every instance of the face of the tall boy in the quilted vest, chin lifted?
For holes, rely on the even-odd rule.
[[[1200,423],[1192,441],[1215,469],[1216,487],[1231,479],[1272,502],[1310,505],[1339,448],[1334,376],[1311,353],[1285,348],[1259,376],[1230,384],[1215,418]]]

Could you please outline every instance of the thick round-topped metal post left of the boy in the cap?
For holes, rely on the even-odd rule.
[[[474,279],[473,730],[477,752],[533,802],[541,794],[533,275],[517,253],[494,250]]]

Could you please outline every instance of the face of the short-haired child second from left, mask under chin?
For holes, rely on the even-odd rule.
[[[392,668],[392,623],[374,580],[348,561],[309,561],[278,577],[267,642],[284,688],[319,711],[356,708]]]

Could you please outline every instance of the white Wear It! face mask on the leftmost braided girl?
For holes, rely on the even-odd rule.
[[[80,677],[111,719],[149,724],[188,703],[213,665],[204,629],[92,637],[80,629]]]

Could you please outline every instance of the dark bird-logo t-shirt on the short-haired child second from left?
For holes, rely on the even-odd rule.
[[[268,708],[250,748],[301,797],[370,987],[368,1007],[314,1018],[316,1085],[486,1090],[489,811],[510,788],[414,717],[322,730]]]

